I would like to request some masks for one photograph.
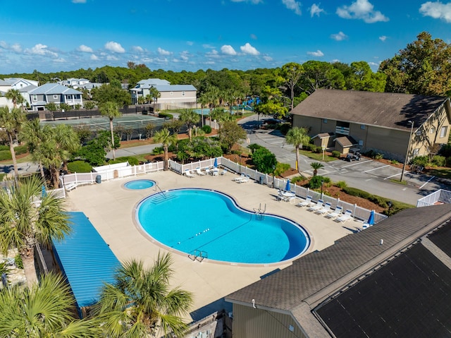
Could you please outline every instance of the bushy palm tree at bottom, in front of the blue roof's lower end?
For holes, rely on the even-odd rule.
[[[192,306],[192,294],[169,289],[171,264],[169,253],[159,253],[148,269],[131,260],[118,270],[113,284],[104,286],[93,313],[103,320],[109,337],[166,337],[170,332],[183,337],[187,325],[181,317]]]

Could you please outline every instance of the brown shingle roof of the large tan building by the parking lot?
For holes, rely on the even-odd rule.
[[[294,115],[409,129],[421,126],[447,97],[319,89],[292,110]]]

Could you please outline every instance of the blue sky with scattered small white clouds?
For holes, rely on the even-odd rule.
[[[0,73],[127,61],[150,69],[274,68],[384,59],[420,32],[451,42],[451,2],[417,0],[1,1]]]

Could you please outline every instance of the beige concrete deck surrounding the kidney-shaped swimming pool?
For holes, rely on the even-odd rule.
[[[173,286],[181,286],[194,294],[192,320],[199,320],[206,315],[221,310],[222,298],[259,280],[265,274],[276,269],[283,269],[291,262],[271,265],[231,265],[226,262],[203,260],[192,261],[185,253],[169,250],[154,242],[137,228],[134,210],[137,203],[148,195],[156,193],[156,187],[143,190],[129,190],[123,184],[134,179],[152,179],[162,191],[173,188],[209,188],[226,193],[240,207],[254,210],[266,205],[266,213],[288,217],[299,223],[309,233],[311,245],[307,253],[321,251],[347,234],[355,227],[362,226],[354,220],[337,223],[323,215],[316,215],[306,208],[296,207],[289,202],[276,200],[278,191],[249,181],[235,183],[237,175],[228,173],[224,176],[195,176],[190,179],[171,171],[159,171],[127,179],[103,181],[91,186],[79,186],[68,193],[66,205],[68,211],[81,211],[92,222],[118,260],[122,262],[132,258],[144,260],[152,265],[156,255],[161,252],[173,252],[173,269],[175,274]],[[199,205],[189,215],[179,215],[174,210],[171,219],[183,223],[187,217],[202,218],[202,210],[208,205]],[[212,220],[214,222],[214,220]],[[249,239],[258,240],[258,239]],[[189,319],[189,318],[188,318]]]

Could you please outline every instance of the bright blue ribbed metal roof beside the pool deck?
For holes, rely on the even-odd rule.
[[[73,231],[62,241],[54,240],[54,250],[80,309],[97,302],[101,287],[114,282],[121,262],[83,212],[68,214]]]

